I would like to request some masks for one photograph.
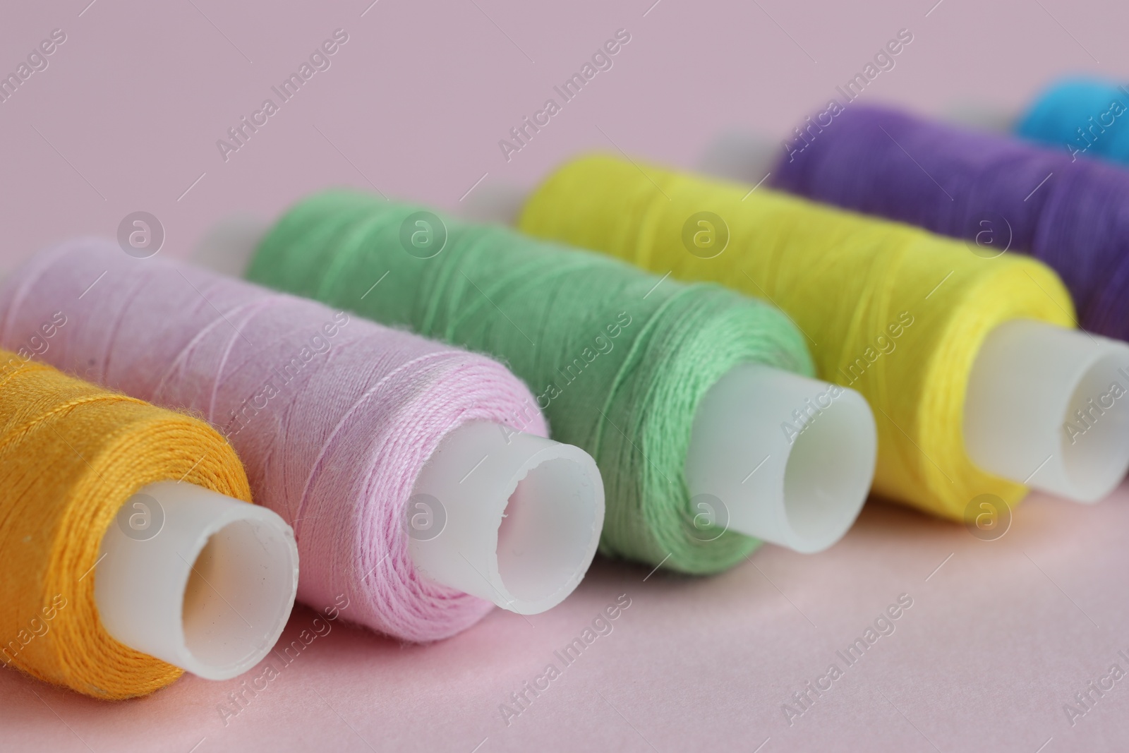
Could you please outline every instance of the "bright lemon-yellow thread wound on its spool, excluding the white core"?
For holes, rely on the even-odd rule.
[[[969,458],[963,410],[974,359],[997,325],[1073,325],[1070,298],[1043,264],[986,259],[908,226],[605,156],[553,174],[519,227],[779,306],[807,336],[819,376],[874,408],[876,493],[953,519],[980,494],[1007,504],[1024,496],[1023,484]]]

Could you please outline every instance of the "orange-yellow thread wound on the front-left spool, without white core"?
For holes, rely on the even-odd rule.
[[[119,508],[180,480],[251,499],[235,450],[203,421],[0,350],[0,662],[103,699],[182,674],[111,637],[94,598]]]

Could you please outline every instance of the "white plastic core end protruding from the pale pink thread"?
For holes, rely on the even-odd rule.
[[[604,525],[596,462],[571,445],[471,421],[415,480],[403,526],[428,578],[518,614],[579,585]]]

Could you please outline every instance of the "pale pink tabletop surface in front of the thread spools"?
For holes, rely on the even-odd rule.
[[[0,672],[0,747],[1108,747],[1129,737],[1126,531],[1129,487],[1034,496],[994,541],[872,502],[821,554],[765,546],[712,578],[601,559],[561,606],[430,646],[298,607],[228,682],[105,703]]]

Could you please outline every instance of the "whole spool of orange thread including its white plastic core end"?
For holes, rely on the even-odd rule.
[[[234,676],[282,631],[292,536],[204,422],[0,351],[0,663],[123,699]]]

